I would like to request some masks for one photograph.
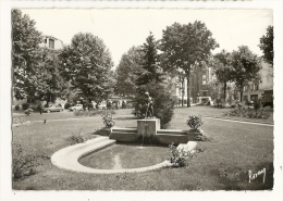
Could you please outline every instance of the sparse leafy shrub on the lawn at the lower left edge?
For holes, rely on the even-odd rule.
[[[13,180],[36,174],[39,159],[50,159],[45,154],[26,154],[21,145],[13,145]]]

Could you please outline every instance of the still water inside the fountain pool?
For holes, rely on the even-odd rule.
[[[138,168],[161,163],[168,155],[168,147],[116,143],[89,153],[78,162],[98,169]]]

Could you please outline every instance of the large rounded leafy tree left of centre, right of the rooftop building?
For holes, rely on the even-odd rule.
[[[60,73],[65,81],[82,90],[89,102],[100,102],[112,92],[111,55],[103,41],[93,34],[76,34],[60,53]]]

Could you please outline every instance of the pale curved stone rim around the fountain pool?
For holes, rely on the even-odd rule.
[[[51,162],[59,168],[64,168],[78,173],[93,173],[93,174],[116,174],[116,173],[138,173],[153,171],[161,167],[170,167],[172,164],[169,161],[162,163],[138,168],[123,168],[123,169],[96,169],[91,167],[86,167],[78,163],[78,159],[83,155],[104,148],[109,145],[113,145],[115,140],[111,140],[108,137],[98,137],[93,140],[88,140],[84,143],[77,143],[70,146],[57,151],[51,156]]]

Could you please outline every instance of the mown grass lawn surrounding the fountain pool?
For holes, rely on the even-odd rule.
[[[175,109],[169,128],[187,129],[188,114],[221,117],[226,109],[192,106]],[[118,111],[116,116],[130,115]],[[222,116],[223,117],[223,116]],[[86,139],[97,137],[103,126],[99,116],[76,117],[71,112],[38,114],[27,117],[29,126],[13,128],[13,143],[21,143],[27,153],[46,153],[71,145],[73,135]],[[62,120],[64,121],[51,121]],[[36,122],[48,120],[46,124]],[[116,126],[133,127],[136,120],[116,118]],[[42,160],[37,173],[13,181],[13,189],[23,190],[262,190],[273,187],[273,127],[205,118],[201,126],[211,141],[198,142],[202,151],[180,168],[161,168],[145,173],[96,175],[60,169],[50,160]],[[134,155],[138,160],[138,156]],[[248,183],[247,171],[267,168],[262,178]]]

